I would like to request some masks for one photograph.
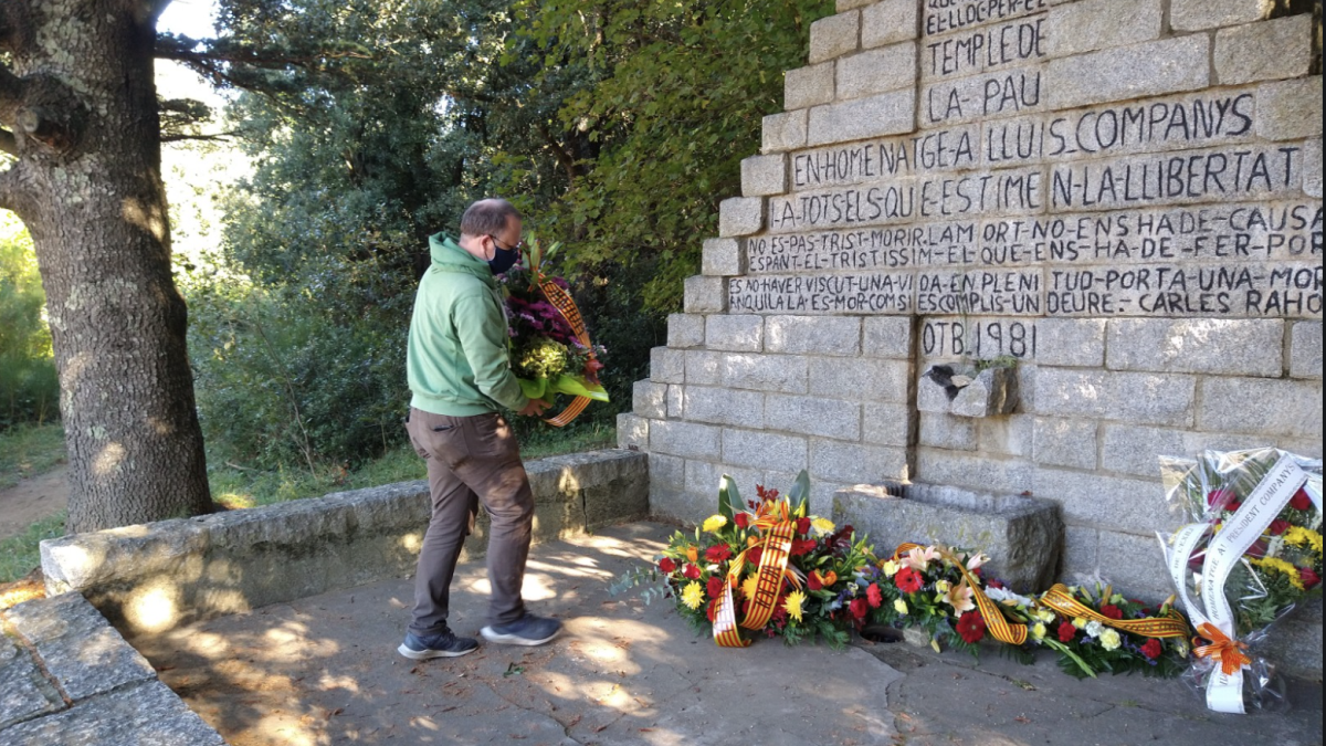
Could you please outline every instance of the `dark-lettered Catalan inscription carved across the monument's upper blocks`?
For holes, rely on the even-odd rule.
[[[1050,38],[1079,33],[1069,5],[920,7],[919,129],[789,153],[732,312],[920,315],[941,357],[1021,357],[1037,317],[1321,317],[1321,146],[1258,137],[1284,115],[1266,84],[1120,69],[1128,88],[1050,110],[1093,100],[1048,88],[1079,82],[1058,50],[1098,54]],[[1180,62],[1138,60],[1162,78]],[[1147,96],[1127,100],[1134,80]]]

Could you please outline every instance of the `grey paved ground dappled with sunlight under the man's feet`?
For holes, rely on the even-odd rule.
[[[402,658],[408,579],[133,642],[232,746],[1322,742],[1315,684],[1292,686],[1286,714],[1235,717],[1208,713],[1177,681],[1077,681],[1052,658],[1022,666],[989,652],[977,664],[867,641],[719,649],[666,603],[607,593],[670,531],[636,523],[534,547],[525,597],[568,628],[542,648]],[[477,636],[483,564],[461,565],[455,588],[452,627]]]

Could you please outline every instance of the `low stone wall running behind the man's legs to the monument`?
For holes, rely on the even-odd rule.
[[[606,450],[532,461],[534,542],[648,515],[648,458]],[[427,482],[41,543],[46,592],[78,591],[126,636],[414,572]],[[464,558],[484,552],[487,514]]]

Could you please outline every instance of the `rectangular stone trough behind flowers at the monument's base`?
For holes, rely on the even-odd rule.
[[[1044,591],[1058,571],[1063,522],[1050,500],[937,485],[858,485],[833,500],[834,523],[869,534],[876,552],[903,542],[979,550],[989,573],[1017,591]]]

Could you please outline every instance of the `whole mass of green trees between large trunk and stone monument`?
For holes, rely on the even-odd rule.
[[[501,194],[562,242],[611,405],[647,374],[682,280],[740,191],[781,70],[829,0],[221,0],[196,62],[253,175],[188,288],[204,433],[245,465],[359,463],[402,439],[403,335],[427,236]],[[188,46],[192,42],[172,40]],[[239,53],[239,52],[243,52]],[[235,277],[252,283],[240,292]],[[522,438],[546,426],[516,422]]]

